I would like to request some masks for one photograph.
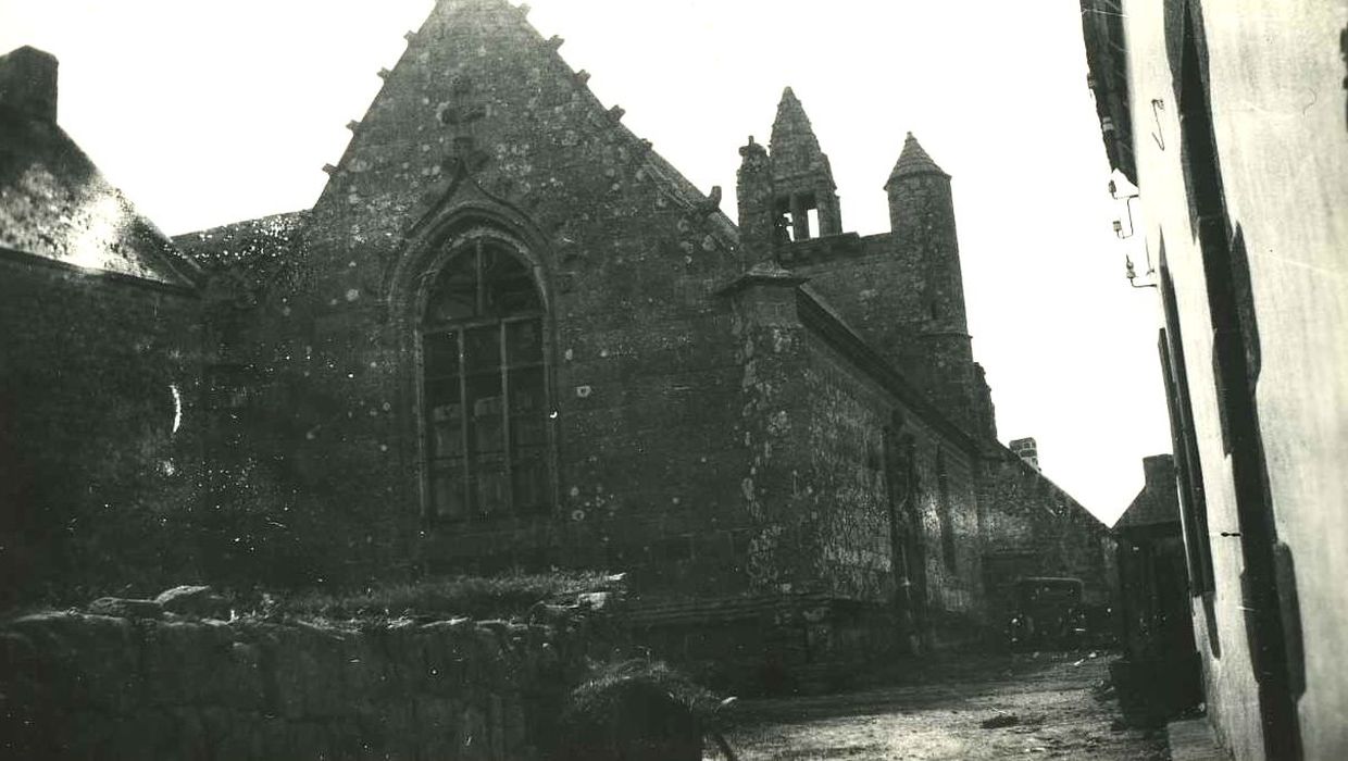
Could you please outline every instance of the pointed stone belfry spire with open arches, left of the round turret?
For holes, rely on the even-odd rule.
[[[810,117],[791,88],[782,92],[768,143],[772,164],[772,202],[776,218],[789,217],[791,240],[836,236],[842,232],[837,185],[829,158],[820,150]],[[818,229],[810,229],[810,211]]]

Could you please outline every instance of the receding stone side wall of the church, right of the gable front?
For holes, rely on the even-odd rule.
[[[921,564],[913,571],[926,581],[925,602],[977,616],[977,473],[969,444],[941,432],[925,418],[929,409],[905,404],[886,385],[899,381],[882,380],[859,364],[836,343],[841,334],[802,325],[798,279],[776,272],[776,282],[747,290],[736,302],[743,318],[737,331],[747,339],[741,420],[754,455],[744,481],[745,510],[756,527],[751,583],[890,603],[890,521],[899,520],[903,532],[915,532],[910,564]],[[842,329],[822,314],[810,319]],[[864,349],[857,343],[851,350]],[[910,500],[887,482],[886,435],[894,420],[911,440]],[[891,508],[891,500],[903,504]]]

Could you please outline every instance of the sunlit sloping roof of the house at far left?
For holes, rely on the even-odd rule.
[[[174,286],[197,273],[61,127],[3,102],[0,246]]]

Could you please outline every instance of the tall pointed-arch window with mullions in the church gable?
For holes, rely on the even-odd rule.
[[[461,241],[430,288],[421,334],[431,520],[546,512],[547,368],[531,268],[504,241]]]

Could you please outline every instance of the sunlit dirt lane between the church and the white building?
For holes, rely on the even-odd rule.
[[[949,656],[837,695],[745,700],[729,738],[778,758],[1169,758],[1163,733],[1120,729],[1105,656]],[[709,753],[706,758],[718,758]]]

